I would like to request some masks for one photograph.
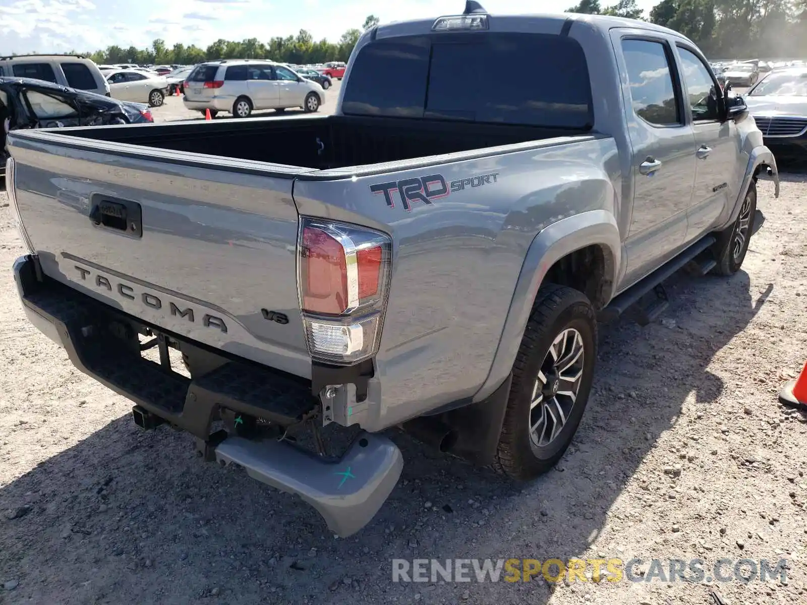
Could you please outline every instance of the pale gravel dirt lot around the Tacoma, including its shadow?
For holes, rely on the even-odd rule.
[[[807,357],[807,175],[772,191],[740,273],[679,273],[662,321],[602,328],[554,471],[512,485],[397,435],[403,477],[347,540],[73,369],[23,319],[0,194],[0,603],[713,603],[705,583],[391,582],[416,557],[786,558],[788,582],[721,584],[725,603],[807,602],[807,418],[776,401]]]

